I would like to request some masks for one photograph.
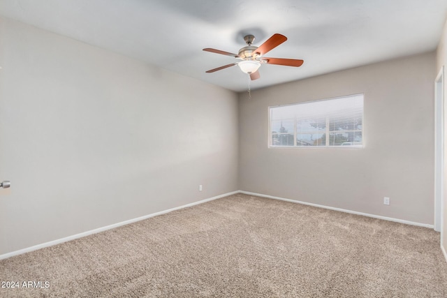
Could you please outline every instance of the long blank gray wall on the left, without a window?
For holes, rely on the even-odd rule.
[[[4,18],[0,36],[0,255],[237,191],[233,92]]]

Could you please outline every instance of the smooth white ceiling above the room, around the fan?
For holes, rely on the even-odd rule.
[[[244,33],[261,45],[288,40],[269,57],[304,59],[299,68],[263,65],[251,89],[435,50],[447,0],[0,0],[0,15],[147,61],[233,91],[245,91],[235,52]]]

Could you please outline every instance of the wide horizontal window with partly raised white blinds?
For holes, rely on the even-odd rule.
[[[270,147],[362,147],[363,94],[269,107]]]

